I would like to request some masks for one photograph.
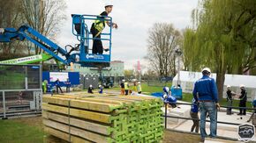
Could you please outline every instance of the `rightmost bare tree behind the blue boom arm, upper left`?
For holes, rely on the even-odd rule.
[[[23,14],[28,25],[49,39],[56,39],[59,27],[65,19],[64,0],[23,0]],[[31,44],[27,44],[30,53]],[[41,54],[41,48],[35,46],[35,54]]]

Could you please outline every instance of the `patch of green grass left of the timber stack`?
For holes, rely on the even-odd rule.
[[[46,136],[41,127],[26,125],[13,120],[0,120],[0,129],[0,142],[43,142],[43,138]]]

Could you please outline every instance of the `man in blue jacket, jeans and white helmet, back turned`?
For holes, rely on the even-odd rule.
[[[200,134],[201,141],[204,141],[207,137],[206,132],[206,117],[207,113],[210,117],[210,137],[216,137],[216,108],[220,108],[218,104],[218,91],[215,83],[215,79],[209,77],[211,75],[210,68],[203,68],[203,77],[200,78],[194,84],[193,97],[196,102],[200,103]]]

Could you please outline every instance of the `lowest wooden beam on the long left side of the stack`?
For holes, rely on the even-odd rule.
[[[66,141],[69,141],[70,135],[66,132],[61,132],[59,130],[53,129],[48,126],[44,126],[44,131],[48,132],[49,134],[56,136],[57,138],[64,139]],[[89,141],[87,139],[82,139],[76,136],[71,135],[71,142],[72,143],[93,143],[92,141]]]

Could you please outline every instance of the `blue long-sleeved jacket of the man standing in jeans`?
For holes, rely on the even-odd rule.
[[[197,97],[197,94],[199,98]],[[215,83],[215,79],[210,78],[207,75],[203,75],[200,80],[195,82],[193,89],[193,97],[196,101],[199,100],[211,100],[215,103],[218,102],[218,91]]]

